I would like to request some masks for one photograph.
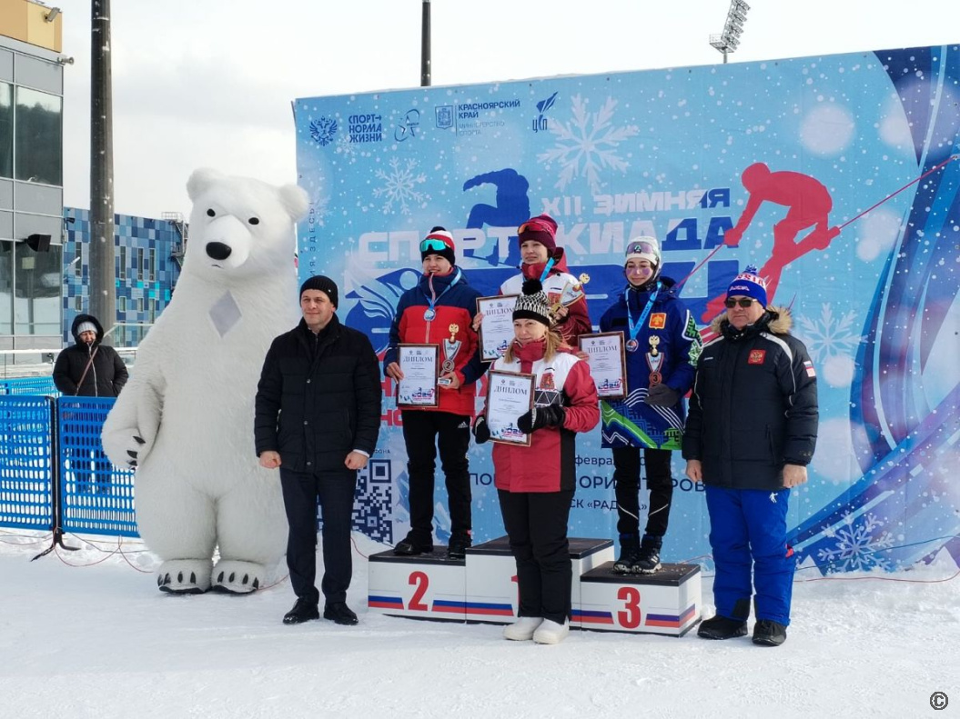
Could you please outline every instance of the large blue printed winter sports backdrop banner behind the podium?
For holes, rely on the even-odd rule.
[[[678,281],[704,263],[682,294],[702,326],[756,265],[819,380],[817,452],[790,499],[802,567],[956,561],[958,82],[951,45],[297,100],[310,196],[300,274],[335,277],[341,319],[382,354],[434,225],[453,232],[470,284],[494,294],[516,274],[517,225],[549,213],[572,271],[590,277],[594,323],[625,286],[631,237],[659,238]],[[396,387],[384,392],[358,519],[396,542],[409,526],[406,452]],[[484,541],[504,533],[490,446],[469,461]],[[615,536],[599,428],[578,436],[577,463],[570,535]],[[668,561],[709,553],[703,492],[683,469],[674,452]],[[437,475],[444,542],[439,461]]]

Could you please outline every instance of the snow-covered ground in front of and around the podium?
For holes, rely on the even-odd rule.
[[[0,717],[919,717],[960,712],[960,578],[944,553],[898,574],[798,574],[779,648],[749,638],[574,632],[509,642],[492,625],[366,613],[288,627],[289,582],[252,596],[156,591],[138,543],[0,530]],[[114,553],[110,554],[109,552]],[[67,566],[70,565],[79,566]],[[804,577],[804,575],[806,575]],[[816,581],[809,581],[816,579]],[[805,580],[805,581],[804,581]],[[712,615],[710,581],[704,582]],[[930,696],[945,692],[935,711]]]

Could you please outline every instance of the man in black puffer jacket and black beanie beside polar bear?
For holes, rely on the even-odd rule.
[[[260,465],[280,470],[290,535],[287,567],[297,594],[284,624],[320,617],[317,500],[324,518],[324,618],[356,624],[347,606],[350,526],[357,470],[380,430],[380,368],[370,339],[337,319],[337,286],[316,276],[300,287],[303,319],[276,337],[256,391]]]

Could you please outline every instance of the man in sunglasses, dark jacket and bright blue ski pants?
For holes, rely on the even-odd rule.
[[[747,633],[754,595],[754,643],[778,646],[790,623],[796,560],[786,541],[790,488],[806,481],[817,442],[817,380],[790,314],[767,309],[755,267],[727,290],[718,336],[704,345],[684,430],[686,475],[707,489],[716,616],[697,634]],[[753,577],[751,577],[753,574]]]

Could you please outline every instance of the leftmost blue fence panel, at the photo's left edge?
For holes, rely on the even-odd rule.
[[[49,397],[0,397],[0,525],[53,527]]]

